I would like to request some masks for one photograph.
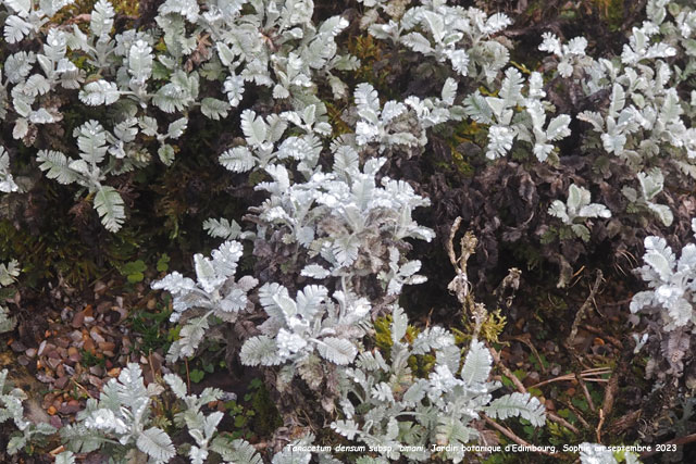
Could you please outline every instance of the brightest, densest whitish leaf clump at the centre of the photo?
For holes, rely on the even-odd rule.
[[[381,243],[409,237],[430,241],[434,237],[430,228],[412,218],[412,211],[430,201],[401,180],[383,177],[378,187],[375,177],[386,160],[368,160],[361,171],[355,147],[341,147],[336,148],[333,173],[318,171],[304,183],[291,184],[283,165],[266,167],[273,180],[259,184],[257,189],[271,196],[254,212],[268,227],[259,230],[264,236],[283,230],[284,243],[301,246],[297,253],[304,249],[310,256],[320,254],[328,263],[328,267],[310,264],[306,274],[310,268],[314,276],[351,274],[350,266],[357,261],[378,274],[388,266],[388,249]],[[383,252],[375,253],[378,249]]]

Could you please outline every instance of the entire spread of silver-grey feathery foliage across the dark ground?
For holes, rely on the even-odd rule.
[[[361,27],[377,40],[417,53],[415,72],[444,76],[439,95],[399,101],[381,100],[371,84],[350,89],[341,79],[341,73],[360,65],[336,41],[349,22],[336,15],[315,24],[311,0],[165,0],[153,27],[122,32],[114,29],[111,2],[98,0],[86,28],[50,24],[71,3],[7,0],[1,7],[7,13],[4,40],[16,51],[0,66],[0,121],[12,126],[15,140],[33,148],[38,130],[63,121],[55,95],[108,110],[77,121],[70,153],[29,150],[47,177],[78,186],[77,196],[90,198],[103,226],[117,231],[127,210],[112,185],[114,176],[156,160],[171,165],[192,113],[217,121],[243,108],[244,138],[223,147],[219,161],[233,173],[254,172],[263,178],[256,189],[264,200],[246,216],[253,227],[244,229],[229,218],[207,221],[206,229],[225,241],[210,258],[194,256],[196,278],[174,272],[153,283],[154,289],[172,293],[172,321],[182,324],[170,362],[194,355],[209,335],[233,340],[237,334],[229,337],[231,323],[247,327],[253,321],[252,329],[236,340],[235,354],[244,364],[276,374],[273,387],[281,393],[294,383],[309,385],[313,393],[326,387],[333,396],[322,405],[335,414],[333,430],[385,450],[394,446],[370,462],[398,459],[399,444],[427,450],[432,443],[455,446],[446,457],[461,461],[456,446],[478,438],[474,426],[483,414],[544,425],[536,398],[494,397],[499,385],[488,380],[493,361],[482,341],[474,338],[462,358],[453,336],[442,327],[430,327],[411,341],[405,338],[408,319],[398,298],[405,285],[425,280],[418,274],[422,263],[407,259],[408,240],[434,238],[432,229],[413,218],[414,210],[430,201],[408,183],[380,174],[394,153],[420,154],[430,130],[464,120],[487,128],[485,158],[490,161],[515,154],[558,162],[556,143],[570,135],[571,116],[547,100],[548,75],[523,77],[508,66],[511,45],[498,35],[512,24],[508,16],[445,0],[409,8],[406,2],[361,0]],[[209,53],[199,53],[202,36],[212,43]],[[562,43],[550,33],[542,36],[539,47],[555,60],[558,75],[585,96],[608,93],[606,104],[577,115],[592,127],[586,148],[618,160],[635,175],[636,183],[621,189],[629,213],[647,213],[664,225],[673,222],[670,208],[659,202],[666,174],[696,177],[696,91],[691,101],[683,100],[682,91],[696,72],[695,37],[692,9],[649,0],[647,21],[633,28],[620,58],[595,60],[586,54],[586,39]],[[684,68],[671,64],[675,57]],[[78,62],[87,63],[94,75],[87,76]],[[493,91],[462,90],[480,85]],[[320,87],[335,99],[352,97],[355,104],[341,115],[351,134],[332,137]],[[249,88],[260,96],[253,108],[243,104]],[[0,191],[8,195],[20,190],[11,172],[13,155],[9,146],[0,147]],[[587,220],[608,218],[612,212],[591,203],[589,191],[573,184],[566,202],[551,202],[549,214],[586,240]],[[282,253],[284,269],[238,276],[243,241],[257,255]],[[662,239],[649,237],[646,250],[641,275],[651,290],[638,293],[631,310],[659,312],[668,334],[691,331],[693,246],[682,250],[679,261]],[[15,275],[15,264],[2,265],[0,284],[10,284]],[[300,277],[301,288],[288,288],[288,283],[299,285]],[[388,354],[368,348],[372,322],[383,314],[393,317]],[[0,330],[12,324],[2,308]],[[685,339],[674,341],[678,353],[684,352],[680,343]],[[435,367],[417,377],[408,359],[424,354],[435,356]],[[676,356],[673,369],[680,369],[682,358]],[[0,388],[4,380],[5,374],[0,375]],[[221,391],[192,396],[178,377],[170,374],[165,381],[186,405],[174,421],[195,442],[188,448],[191,462],[206,462],[211,453],[224,462],[262,462],[249,443],[217,434],[220,413],[201,412],[203,403],[222,398]],[[146,387],[139,367],[128,365],[99,400],[88,401],[76,424],[63,428],[69,451],[57,462],[74,462],[74,453],[100,448],[110,448],[119,459],[171,460],[175,447],[153,424],[150,407],[163,388]],[[24,398],[16,389],[0,391],[0,421],[13,419],[20,430],[11,441],[13,452],[34,436],[54,431],[24,419]],[[294,443],[312,440],[307,435]],[[427,451],[405,454],[414,461],[433,457]],[[288,446],[272,462],[311,459],[310,452]],[[337,462],[328,455],[319,459]]]

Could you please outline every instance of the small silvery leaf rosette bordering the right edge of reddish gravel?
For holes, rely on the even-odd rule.
[[[241,254],[241,243],[225,241],[212,251],[211,258],[200,253],[194,256],[196,280],[173,272],[152,283],[153,289],[166,290],[174,297],[172,322],[179,321],[189,310],[198,311],[185,315],[187,319],[179,333],[181,338],[172,343],[167,359],[175,361],[192,355],[206,336],[210,316],[234,322],[238,312],[248,309],[247,293],[258,285],[258,280],[250,276],[235,279]]]

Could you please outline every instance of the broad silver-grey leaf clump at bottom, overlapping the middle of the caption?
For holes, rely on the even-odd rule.
[[[361,352],[355,366],[341,371],[343,418],[331,427],[349,440],[381,444],[383,457],[428,461],[431,446],[446,447],[445,457],[463,459],[463,446],[478,437],[472,421],[485,413],[493,417],[523,417],[534,426],[545,423],[538,399],[513,393],[493,400],[499,384],[489,383],[493,358],[483,342],[473,340],[461,374],[460,349],[442,327],[428,327],[412,341],[405,340],[408,318],[395,308],[388,360],[382,352]],[[435,355],[427,378],[418,378],[409,367],[411,356]],[[409,447],[402,453],[396,450]],[[422,451],[412,451],[421,448]]]

